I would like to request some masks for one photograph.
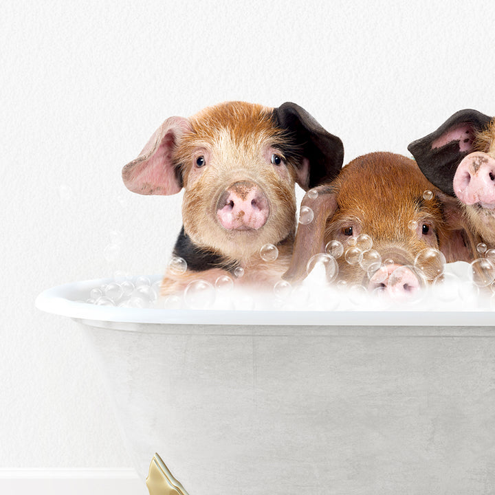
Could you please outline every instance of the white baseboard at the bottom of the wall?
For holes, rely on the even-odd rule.
[[[1,471],[1,495],[149,495],[134,471]]]

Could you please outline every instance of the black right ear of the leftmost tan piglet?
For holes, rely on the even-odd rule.
[[[331,182],[344,162],[344,146],[340,138],[325,131],[305,109],[292,102],[274,109],[274,117],[276,124],[286,129],[303,147],[298,184],[307,190]]]

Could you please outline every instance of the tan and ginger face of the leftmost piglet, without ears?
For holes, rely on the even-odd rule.
[[[236,119],[218,122],[200,115],[176,159],[184,180],[184,228],[192,241],[245,259],[294,233],[294,184],[307,176],[308,164],[303,159],[297,167],[284,151],[270,113],[258,118],[265,126],[255,131],[239,115]]]

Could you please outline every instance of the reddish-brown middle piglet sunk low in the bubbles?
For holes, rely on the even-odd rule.
[[[338,273],[336,280],[347,285],[402,300],[441,274],[444,257],[468,256],[464,230],[454,221],[459,217],[455,201],[401,155],[354,159],[329,184],[307,192],[301,208],[310,208],[314,219],[299,225],[296,234],[284,275],[293,283],[307,276],[314,256],[327,251],[338,265],[331,278]],[[333,244],[343,252],[331,241],[338,241]]]

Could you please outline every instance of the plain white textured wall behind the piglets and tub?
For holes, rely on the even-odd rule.
[[[0,12],[0,470],[131,470],[76,325],[47,287],[162,272],[180,197],[120,170],[170,115],[292,100],[346,162],[454,111],[495,115],[495,7],[426,1],[4,1]],[[67,191],[69,188],[69,191]],[[120,257],[103,256],[110,232]]]

